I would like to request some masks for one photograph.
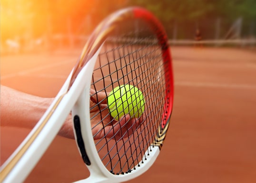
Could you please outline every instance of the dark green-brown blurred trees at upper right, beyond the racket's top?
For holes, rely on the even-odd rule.
[[[250,34],[256,36],[255,0],[130,0],[129,4],[152,11],[163,22],[169,35],[177,26],[180,38],[193,36],[197,27],[203,29],[206,38],[214,38],[218,18],[222,20],[219,23],[222,34],[237,18],[243,18],[243,28],[249,28]]]

